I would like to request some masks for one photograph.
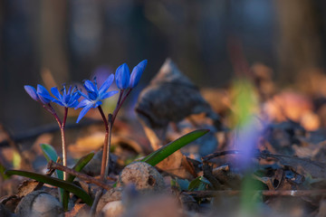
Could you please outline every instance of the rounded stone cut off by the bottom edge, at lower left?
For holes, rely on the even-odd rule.
[[[18,216],[63,217],[62,204],[53,195],[44,191],[35,191],[24,196],[15,213]]]

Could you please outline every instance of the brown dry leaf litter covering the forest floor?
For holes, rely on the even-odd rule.
[[[139,95],[136,106],[139,120],[117,119],[107,183],[110,190],[102,194],[96,213],[103,216],[158,216],[158,213],[170,216],[216,216],[216,213],[220,216],[245,213],[251,216],[325,216],[326,134],[322,127],[326,126],[326,96],[318,88],[305,94],[300,88],[277,90],[273,71],[263,64],[254,64],[252,72],[245,79],[253,84],[253,94],[259,100],[253,114],[267,124],[256,139],[250,140],[254,148],[249,156],[249,167],[239,165],[238,161],[246,154],[235,146],[234,138],[241,129],[234,125],[233,115],[239,108],[235,108],[233,98],[236,96],[232,88],[199,90],[168,59]],[[318,76],[325,80],[324,75]],[[156,169],[150,165],[135,165],[139,163],[129,165],[177,137],[201,128],[210,129],[209,134],[168,156],[155,166]],[[73,157],[97,151],[82,173],[98,178],[101,125],[93,123],[70,130],[73,136],[70,138],[67,133],[67,140]],[[52,137],[46,143],[55,144],[60,139],[56,133]],[[20,151],[13,144],[14,137],[9,139],[12,145],[0,148],[1,156],[8,150]],[[22,145],[39,146],[42,140],[36,140],[38,144],[23,141]],[[34,163],[36,172],[42,172],[40,168],[45,171],[44,159],[38,160],[40,155],[40,151],[35,154],[33,149],[24,148],[24,156],[33,156],[28,160]],[[12,159],[5,155],[0,164],[9,169]],[[72,158],[69,160],[73,162]],[[130,170],[130,166],[137,168]],[[48,200],[59,198],[53,185],[43,184],[36,188],[38,182],[18,176],[9,178],[3,173],[0,178],[2,215],[12,215],[15,210],[19,214],[18,204],[31,192],[35,196],[46,193]],[[99,192],[99,186],[78,177],[74,184],[92,198]],[[157,184],[158,190],[150,190]],[[86,216],[91,209],[73,193],[69,200],[66,216]],[[55,209],[62,212],[60,207]]]

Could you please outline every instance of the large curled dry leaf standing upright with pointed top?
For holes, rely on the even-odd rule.
[[[154,150],[162,145],[169,122],[205,113],[216,125],[220,124],[218,115],[197,87],[170,59],[164,62],[149,87],[141,91],[136,112]]]

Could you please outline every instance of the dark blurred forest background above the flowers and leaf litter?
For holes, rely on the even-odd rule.
[[[0,122],[14,134],[52,123],[24,85],[123,62],[149,60],[139,90],[167,57],[198,87],[224,87],[234,44],[290,85],[325,67],[325,11],[322,0],[0,0]]]

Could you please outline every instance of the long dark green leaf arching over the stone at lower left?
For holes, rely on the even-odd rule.
[[[7,170],[5,172],[5,175],[21,175],[42,182],[44,184],[51,184],[53,186],[60,187],[66,191],[76,194],[82,199],[84,203],[87,203],[88,205],[92,204],[91,196],[86,193],[82,188],[66,181],[63,181],[61,179],[22,170]]]

